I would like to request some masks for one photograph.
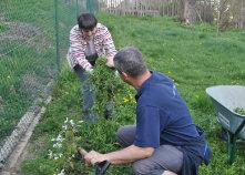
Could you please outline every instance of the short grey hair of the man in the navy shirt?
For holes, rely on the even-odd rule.
[[[137,78],[147,71],[141,52],[132,47],[121,49],[113,61],[119,73],[125,72],[132,78]]]

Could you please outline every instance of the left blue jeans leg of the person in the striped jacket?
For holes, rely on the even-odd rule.
[[[89,74],[82,66],[75,65],[74,71],[81,81],[83,119],[89,122],[94,122],[96,120],[96,115],[92,113],[92,106],[95,100],[93,84],[89,82]]]

